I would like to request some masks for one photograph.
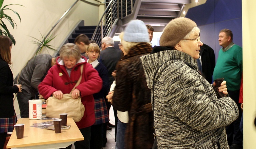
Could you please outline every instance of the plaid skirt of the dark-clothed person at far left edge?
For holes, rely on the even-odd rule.
[[[0,133],[13,132],[14,125],[17,122],[16,114],[9,118],[0,118]]]

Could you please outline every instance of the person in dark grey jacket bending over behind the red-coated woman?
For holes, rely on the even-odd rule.
[[[15,77],[14,83],[22,85],[22,92],[17,94],[20,117],[29,117],[28,101],[35,99],[38,85],[43,81],[48,70],[56,64],[56,58],[42,54],[31,58],[22,71]]]

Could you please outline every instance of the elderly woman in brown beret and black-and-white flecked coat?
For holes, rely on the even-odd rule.
[[[216,83],[209,84],[198,72],[195,59],[203,43],[196,23],[183,17],[171,20],[159,43],[141,57],[154,95],[158,148],[228,149],[225,126],[237,119],[238,107],[218,95],[228,96],[226,81],[215,89]]]

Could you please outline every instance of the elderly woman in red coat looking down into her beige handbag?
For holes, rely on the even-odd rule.
[[[81,83],[71,93],[73,99],[81,96],[81,102],[85,107],[83,118],[76,122],[84,140],[76,141],[74,145],[76,149],[89,149],[90,126],[95,122],[93,94],[101,90],[102,79],[97,70],[86,62],[86,58],[81,57],[79,48],[75,44],[63,45],[56,61],[57,64],[48,71],[44,80],[39,84],[38,90],[45,99],[55,96],[61,100],[63,94],[70,93],[75,86],[81,76],[81,65],[84,65]]]

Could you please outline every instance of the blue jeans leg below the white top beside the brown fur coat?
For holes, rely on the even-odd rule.
[[[127,123],[123,123],[120,120],[117,122],[117,133],[116,133],[116,149],[125,148],[125,130]]]

